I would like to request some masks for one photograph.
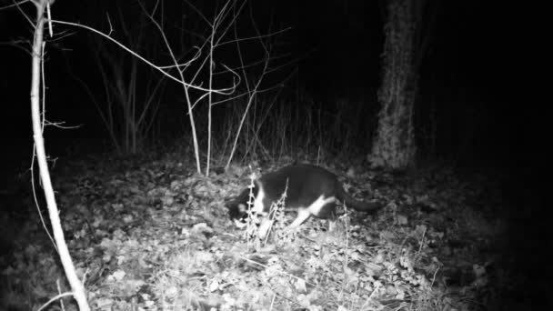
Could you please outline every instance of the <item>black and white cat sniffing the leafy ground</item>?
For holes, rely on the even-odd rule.
[[[337,176],[322,167],[305,164],[285,166],[255,181],[252,212],[262,217],[258,231],[262,238],[272,226],[268,219],[271,205],[280,199],[285,189],[286,210],[297,211],[296,219],[288,228],[300,226],[311,216],[335,219],[337,200],[360,212],[373,212],[381,207],[378,203],[359,201],[349,196]],[[228,214],[236,226],[240,226],[247,217],[248,198],[249,188],[246,188],[226,203]]]

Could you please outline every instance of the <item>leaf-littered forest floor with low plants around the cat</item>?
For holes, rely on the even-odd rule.
[[[493,178],[447,166],[394,174],[362,161],[324,163],[350,194],[384,207],[347,211],[331,232],[312,218],[295,235],[276,229],[257,241],[225,207],[249,184],[250,168],[206,177],[182,161],[53,170],[65,239],[94,310],[481,310],[502,309],[514,290],[508,223],[498,216],[507,203]],[[18,194],[6,190],[2,202],[10,208],[0,224],[0,309],[36,310],[68,286],[33,197]],[[45,307],[61,309],[75,305],[64,298]]]

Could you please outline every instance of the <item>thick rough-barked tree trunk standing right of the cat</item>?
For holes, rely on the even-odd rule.
[[[422,53],[417,46],[420,8],[422,4],[410,0],[390,0],[387,3],[383,82],[378,91],[381,110],[377,137],[369,156],[373,166],[400,169],[415,160],[413,105]]]

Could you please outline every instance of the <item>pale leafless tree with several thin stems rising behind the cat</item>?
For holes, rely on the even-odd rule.
[[[209,174],[209,168],[210,168],[210,161],[211,161],[211,149],[212,149],[212,109],[215,105],[219,105],[222,103],[232,103],[237,98],[243,98],[246,101],[246,109],[242,115],[242,118],[240,119],[239,125],[237,125],[236,129],[236,135],[234,139],[234,143],[231,147],[230,156],[228,156],[228,160],[226,163],[226,167],[230,165],[231,160],[233,159],[233,156],[236,151],[236,143],[238,140],[239,135],[241,134],[242,126],[244,125],[246,115],[249,112],[249,108],[251,107],[252,103],[254,103],[256,99],[256,95],[266,91],[261,90],[260,86],[261,83],[264,81],[264,77],[269,70],[268,63],[271,60],[271,53],[270,53],[270,47],[268,46],[267,41],[269,41],[272,37],[279,35],[288,29],[278,30],[274,33],[268,33],[268,34],[261,34],[261,32],[257,29],[257,26],[255,24],[255,21],[253,19],[253,16],[250,12],[250,19],[253,24],[255,34],[251,37],[238,37],[236,32],[236,22],[238,20],[239,15],[243,11],[247,0],[226,0],[226,2],[223,3],[223,5],[220,6],[220,8],[216,9],[216,14],[212,19],[209,19],[204,15],[202,12],[200,12],[194,5],[189,3],[188,1],[185,1],[193,10],[196,11],[196,14],[201,17],[201,20],[207,25],[207,31],[206,36],[203,37],[202,45],[195,46],[196,47],[196,55],[186,64],[186,65],[179,65],[178,64],[178,57],[176,55],[176,49],[174,46],[170,45],[169,40],[166,37],[163,25],[159,20],[162,20],[162,18],[156,19],[156,14],[160,12],[160,9],[158,5],[155,5],[153,9],[151,9],[149,12],[146,10],[144,6],[144,12],[146,15],[149,16],[150,20],[159,30],[159,34],[162,36],[163,41],[166,45],[166,50],[169,52],[169,55],[171,55],[171,58],[174,62],[174,67],[177,69],[178,75],[180,76],[180,79],[182,81],[188,81],[189,85],[201,85],[198,81],[204,77],[204,81],[207,80],[207,89],[205,91],[196,92],[196,95],[192,95],[190,92],[190,86],[187,84],[183,85],[183,91],[186,98],[186,107],[188,109],[187,115],[190,117],[190,124],[192,125],[192,131],[193,131],[193,138],[194,138],[194,144],[195,144],[195,150],[196,150],[196,166],[198,168],[198,173],[200,172],[200,164],[199,164],[199,155],[197,154],[197,150],[199,150],[199,147],[197,147],[198,142],[196,139],[196,123],[194,121],[194,109],[196,108],[196,105],[201,104],[204,100],[206,100],[207,105],[207,150],[206,150],[206,175]],[[230,29],[234,29],[234,37],[228,38],[230,34]],[[242,54],[240,43],[243,43],[245,41],[257,41],[258,45],[261,47],[263,53],[262,53],[262,59],[252,61],[251,59],[245,59],[244,55]],[[223,60],[217,59],[215,57],[216,49],[221,48],[225,45],[236,45],[236,53],[239,65],[236,68],[230,68],[226,66],[223,63]],[[251,62],[251,63],[250,63]],[[195,63],[196,66],[190,66],[193,63]],[[260,73],[256,75],[255,77],[249,76],[246,73],[246,68],[248,67],[260,67]],[[194,67],[194,70],[190,70],[189,68]],[[215,70],[216,67],[222,68],[218,71]],[[273,68],[273,71],[276,71],[278,68]],[[188,72],[187,72],[188,70]],[[190,73],[192,71],[192,73]],[[234,77],[234,84],[233,85],[227,85],[226,88],[221,88],[219,86],[216,86],[216,81],[214,79],[215,76],[220,77],[221,75],[232,75]],[[188,80],[186,80],[186,76],[191,76]],[[236,91],[236,88],[239,83],[244,83],[245,91],[242,94],[235,95],[234,92]],[[271,89],[271,87],[269,87]],[[219,95],[219,100],[214,100],[214,94]],[[222,96],[221,96],[222,95]]]

